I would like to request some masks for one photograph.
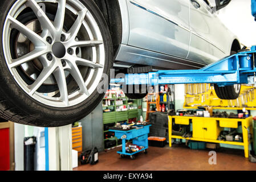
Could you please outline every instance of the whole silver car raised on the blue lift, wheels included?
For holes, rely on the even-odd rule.
[[[229,2],[2,0],[0,115],[67,125],[100,103],[113,67],[199,69],[235,53],[239,41],[216,14]],[[225,95],[240,86],[216,88]]]

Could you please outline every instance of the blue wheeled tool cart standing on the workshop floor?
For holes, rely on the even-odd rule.
[[[115,132],[115,137],[118,139],[122,139],[122,150],[117,151],[121,157],[128,155],[131,159],[135,159],[135,154],[144,151],[147,154],[148,149],[148,134],[149,127],[151,125],[148,123],[147,125],[133,125],[129,127],[129,129],[122,129],[118,127],[111,127],[109,131]],[[126,140],[132,140],[132,144],[137,146],[143,146],[139,151],[135,152],[127,152],[126,150]]]

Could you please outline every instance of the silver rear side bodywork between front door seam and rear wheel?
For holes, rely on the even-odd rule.
[[[210,64],[229,55],[225,39],[227,28],[218,19],[206,0],[189,0],[190,3],[190,51],[188,59]],[[231,47],[230,47],[231,48]]]

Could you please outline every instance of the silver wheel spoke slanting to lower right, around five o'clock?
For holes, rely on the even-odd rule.
[[[88,89],[86,87],[86,84],[84,82],[83,76],[81,75],[81,72],[78,68],[78,66],[71,61],[69,62],[70,69],[67,69],[72,77],[75,79],[76,83],[78,84],[80,88],[81,93],[85,93],[87,96],[90,96],[90,93],[88,92]]]

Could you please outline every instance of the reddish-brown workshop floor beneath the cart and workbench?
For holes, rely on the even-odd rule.
[[[86,164],[74,171],[182,171],[182,170],[253,170],[256,163],[244,158],[243,150],[221,148],[217,151],[217,164],[210,165],[210,150],[190,150],[182,144],[170,148],[149,147],[148,154],[139,154],[135,160],[120,158],[120,148],[99,154],[99,163]]]

